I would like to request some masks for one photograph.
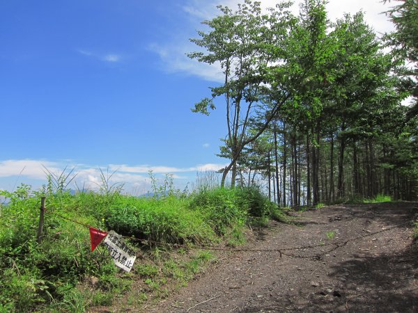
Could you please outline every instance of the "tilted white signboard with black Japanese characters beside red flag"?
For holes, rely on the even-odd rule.
[[[106,248],[116,266],[130,272],[137,256],[135,255],[134,250],[126,246],[122,236],[111,230],[109,234],[107,234],[103,243],[106,245]]]

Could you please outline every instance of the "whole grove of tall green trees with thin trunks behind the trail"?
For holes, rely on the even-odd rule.
[[[410,15],[417,1],[402,2],[391,18],[416,26]],[[262,10],[249,0],[235,11],[219,6],[221,14],[203,22],[210,31],[192,39],[203,51],[189,57],[219,63],[224,73],[224,83],[192,110],[209,115],[224,97],[227,134],[219,155],[231,162],[222,186],[230,171],[232,186],[253,184],[258,172],[283,204],[378,193],[402,198],[401,184],[412,197],[415,161],[405,163],[405,155],[416,160],[416,154],[402,145],[409,152],[397,156],[396,149],[416,142],[416,124],[405,124],[401,106],[416,67],[407,73],[400,60],[417,64],[418,32],[398,26],[387,35],[389,54],[362,12],[331,22],[324,0],[305,0],[297,16],[290,6]]]

